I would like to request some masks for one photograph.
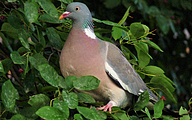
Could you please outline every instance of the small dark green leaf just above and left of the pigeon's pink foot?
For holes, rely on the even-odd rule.
[[[85,103],[95,103],[95,99],[93,99],[92,96],[85,94],[85,93],[77,93],[79,102],[85,102]]]

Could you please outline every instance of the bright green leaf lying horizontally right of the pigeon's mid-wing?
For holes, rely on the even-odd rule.
[[[153,75],[161,75],[165,73],[160,67],[157,66],[146,66],[143,69],[146,73],[153,74]]]

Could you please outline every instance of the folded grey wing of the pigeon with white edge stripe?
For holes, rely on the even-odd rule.
[[[106,42],[106,45],[106,73],[129,93],[139,95],[143,91],[148,90],[150,99],[156,101],[157,97],[147,88],[144,81],[124,57],[120,49],[108,42]]]

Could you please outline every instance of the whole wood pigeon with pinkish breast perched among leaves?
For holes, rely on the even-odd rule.
[[[96,37],[91,13],[85,4],[73,2],[66,10],[59,19],[70,18],[73,25],[60,56],[64,77],[92,75],[98,78],[97,89],[81,92],[106,102],[107,105],[98,108],[104,111],[111,111],[112,106],[130,106],[132,97],[146,90],[151,100],[158,101],[121,50]]]

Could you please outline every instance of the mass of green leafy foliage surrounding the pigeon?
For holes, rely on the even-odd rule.
[[[98,0],[98,4],[93,4],[95,7],[90,7],[91,11],[93,8],[102,8],[105,12],[107,11],[107,14],[103,15],[102,10],[95,10],[95,14],[98,14],[96,18],[99,18],[93,19],[94,24],[97,25],[95,33],[103,40],[110,42],[114,40],[118,43],[126,58],[144,79],[147,86],[158,97],[166,96],[168,103],[174,103],[173,106],[176,106],[175,103],[177,103],[178,98],[175,97],[174,93],[175,81],[173,83],[166,76],[167,74],[165,75],[169,71],[162,67],[161,62],[158,63],[162,68],[152,65],[154,61],[159,60],[153,58],[154,55],[151,54],[151,51],[155,49],[160,54],[160,52],[166,51],[166,45],[162,47],[162,50],[158,46],[160,43],[151,40],[155,31],[150,31],[150,29],[156,28],[159,32],[157,36],[160,36],[162,40],[166,39],[165,35],[168,37],[170,31],[176,33],[180,28],[175,26],[175,20],[170,19],[174,15],[173,10],[165,7],[160,9],[162,7],[161,2],[158,4],[159,2],[153,1],[154,5],[152,5],[149,1],[106,0],[100,4],[101,1]],[[169,0],[170,6],[187,11],[192,10],[190,0],[176,1]],[[88,94],[75,92],[76,90],[96,89],[100,83],[97,78],[93,76],[63,78],[61,76],[59,52],[72,25],[69,19],[59,20],[59,15],[71,2],[71,0],[1,1],[1,119],[139,120],[143,118],[151,120],[170,118],[162,114],[164,107],[162,99],[153,106],[154,114],[150,112],[146,107],[149,102],[147,91],[143,92],[130,108],[113,107],[111,113],[97,110],[96,107],[104,104],[95,101]],[[89,7],[90,3],[87,2],[87,5]],[[119,6],[123,9],[119,9]],[[113,9],[121,14],[112,11]],[[139,15],[142,15],[144,19],[131,21],[130,10],[135,11],[131,15],[135,15],[135,13],[137,15],[139,11]],[[175,14],[182,16],[179,10]],[[107,20],[109,16],[111,16],[110,20]],[[146,21],[150,23],[148,25],[143,24]],[[166,55],[166,52],[161,53],[161,55]],[[167,64],[172,64],[172,62],[169,61]],[[183,90],[181,89],[181,91]],[[191,106],[191,101],[190,99],[188,106]],[[189,119],[187,110],[180,105],[175,110],[179,108],[180,115],[186,114],[181,119]]]

